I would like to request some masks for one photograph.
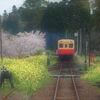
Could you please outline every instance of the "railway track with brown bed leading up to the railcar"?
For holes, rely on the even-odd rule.
[[[95,92],[93,95],[92,90],[88,90],[87,83],[80,79],[81,71],[76,74],[73,63],[59,62],[57,65],[58,68],[50,69],[59,71],[57,75],[51,75],[54,82],[47,89],[33,94],[28,100],[100,100],[99,95]],[[91,85],[89,86],[92,89]]]

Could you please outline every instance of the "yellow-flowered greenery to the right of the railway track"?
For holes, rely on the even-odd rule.
[[[74,56],[75,62],[80,64],[82,70],[85,71],[84,68],[84,56]],[[100,82],[100,57],[94,57],[94,62],[90,63],[90,67],[88,66],[88,56],[87,56],[87,71],[85,71],[83,80],[90,82],[91,84],[95,84],[96,82]]]

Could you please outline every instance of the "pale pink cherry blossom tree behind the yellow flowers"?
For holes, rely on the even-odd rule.
[[[40,31],[20,32],[17,35],[2,33],[3,57],[20,58],[37,54],[39,50],[45,49],[44,36]]]

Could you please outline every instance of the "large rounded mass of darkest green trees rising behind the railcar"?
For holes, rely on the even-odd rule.
[[[64,38],[66,31],[68,33],[75,33],[80,29],[84,29],[84,27],[88,27],[89,19],[90,10],[86,9],[86,7],[81,2],[77,2],[77,0],[50,3],[44,13],[41,30],[48,33],[48,38],[50,34],[53,36],[54,41],[52,41],[53,43],[51,44],[54,44],[57,43],[54,34]],[[73,35],[74,34],[72,34],[72,36]],[[50,39],[47,39],[47,41],[47,43],[50,43]]]

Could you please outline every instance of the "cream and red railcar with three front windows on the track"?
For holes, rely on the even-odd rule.
[[[58,40],[58,55],[60,60],[72,60],[74,52],[74,40]]]

